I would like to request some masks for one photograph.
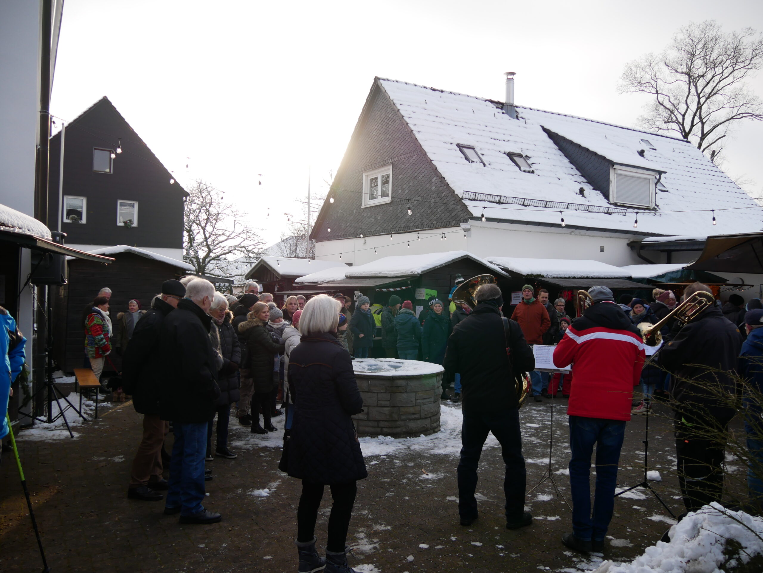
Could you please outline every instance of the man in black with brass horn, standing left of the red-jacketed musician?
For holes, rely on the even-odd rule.
[[[504,300],[497,285],[481,285],[475,299],[472,314],[453,329],[445,355],[446,380],[459,372],[464,404],[459,516],[464,526],[477,519],[477,464],[492,432],[506,464],[506,526],[517,529],[533,517],[524,511],[526,474],[514,373],[533,370],[535,357],[519,324],[501,316]]]

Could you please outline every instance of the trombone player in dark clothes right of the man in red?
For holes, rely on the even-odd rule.
[[[695,282],[688,298],[710,288]],[[734,371],[742,334],[715,304],[687,323],[659,350],[658,359],[671,372],[678,482],[687,511],[720,501],[723,493],[723,449],[720,436],[734,416],[723,396],[733,396]]]

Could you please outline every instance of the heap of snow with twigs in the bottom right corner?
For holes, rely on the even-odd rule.
[[[594,573],[716,573],[720,565],[733,570],[763,560],[763,517],[713,503],[672,526],[670,539],[647,547],[633,562],[604,562]]]

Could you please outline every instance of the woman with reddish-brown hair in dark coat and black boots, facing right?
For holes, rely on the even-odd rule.
[[[266,330],[270,320],[270,307],[265,302],[258,302],[252,311],[246,315],[246,321],[239,324],[239,333],[246,340],[247,359],[254,384],[252,398],[252,433],[275,432],[270,423],[270,396],[273,391],[273,359],[276,354],[282,354],[284,345],[272,339]],[[262,410],[262,426],[259,425],[257,411]],[[257,416],[256,422],[254,417]]]

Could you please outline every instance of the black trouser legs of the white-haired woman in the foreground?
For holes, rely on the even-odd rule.
[[[327,551],[344,551],[347,540],[349,518],[353,516],[353,505],[358,492],[357,482],[349,484],[331,484],[331,513],[329,515]],[[320,500],[324,497],[324,484],[314,484],[302,480],[302,495],[297,508],[297,540],[312,541],[315,536],[315,522],[318,518]]]

